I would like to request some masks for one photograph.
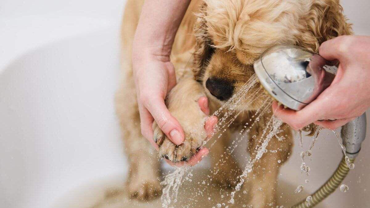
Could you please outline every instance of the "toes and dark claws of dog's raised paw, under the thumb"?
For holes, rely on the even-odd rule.
[[[181,161],[188,161],[196,152],[199,151],[203,140],[205,139],[205,132],[203,130],[187,133],[185,131],[185,140],[181,145],[175,145],[169,140],[157,123],[153,124],[154,141],[159,146],[159,156],[174,163]]]

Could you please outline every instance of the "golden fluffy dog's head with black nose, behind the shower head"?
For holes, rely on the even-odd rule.
[[[254,60],[269,47],[292,44],[318,52],[323,41],[351,34],[351,26],[339,0],[205,0],[195,34],[195,78],[223,104],[253,76]]]

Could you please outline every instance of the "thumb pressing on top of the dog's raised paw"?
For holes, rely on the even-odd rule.
[[[158,97],[156,100],[152,100],[150,105],[146,107],[154,117],[159,128],[161,128],[174,144],[180,145],[184,142],[184,131],[176,118],[168,111],[164,100]]]

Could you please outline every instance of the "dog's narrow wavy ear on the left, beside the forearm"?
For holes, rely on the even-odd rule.
[[[214,48],[211,47],[212,41],[208,36],[207,26],[206,26],[206,7],[205,2],[202,3],[202,7],[199,10],[200,12],[196,14],[197,20],[194,26],[195,33],[195,51],[194,51],[194,60],[193,60],[193,73],[195,80],[201,81],[203,78],[203,73],[205,67],[208,64],[209,59],[211,58]]]

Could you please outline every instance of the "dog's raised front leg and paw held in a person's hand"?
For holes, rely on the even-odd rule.
[[[154,122],[154,140],[159,146],[159,155],[172,162],[187,161],[202,146],[206,138],[204,122],[207,115],[198,105],[198,99],[205,97],[201,84],[192,78],[183,78],[171,90],[166,105],[171,114],[179,121],[185,133],[185,141],[175,145]]]

